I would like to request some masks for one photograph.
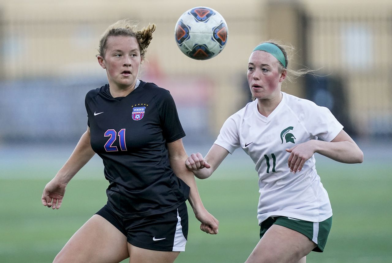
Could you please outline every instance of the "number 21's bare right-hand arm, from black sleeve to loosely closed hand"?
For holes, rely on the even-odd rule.
[[[190,187],[188,200],[193,208],[196,218],[201,222],[200,229],[209,234],[218,234],[219,222],[204,208],[196,186],[194,175],[185,167],[185,160],[188,158],[188,155],[185,152],[182,139],[169,142],[167,147],[169,150],[170,165],[174,174],[176,174],[177,177]]]

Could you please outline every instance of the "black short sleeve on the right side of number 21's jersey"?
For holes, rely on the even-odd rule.
[[[178,118],[176,104],[169,91],[164,90],[159,100],[162,102],[160,106],[160,122],[166,142],[174,142],[185,137],[185,132]]]

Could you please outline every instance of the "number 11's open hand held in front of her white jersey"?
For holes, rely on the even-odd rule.
[[[313,156],[315,148],[312,141],[314,140],[303,142],[294,146],[293,148],[286,149],[287,152],[291,153],[289,156],[288,165],[290,172],[293,174],[295,174],[297,171],[301,171],[305,162]]]

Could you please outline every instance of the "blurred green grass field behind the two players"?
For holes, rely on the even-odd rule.
[[[258,242],[258,178],[250,160],[234,159],[225,160],[210,179],[197,181],[205,207],[220,221],[219,234],[201,232],[189,209],[187,249],[176,263],[241,263]],[[28,160],[0,163],[4,175],[0,176],[0,262],[52,262],[106,202],[107,181],[96,161],[69,183],[60,210],[45,208],[40,202],[42,190],[65,159]],[[334,221],[326,251],[311,252],[307,262],[392,262],[391,163],[324,160],[317,167]]]

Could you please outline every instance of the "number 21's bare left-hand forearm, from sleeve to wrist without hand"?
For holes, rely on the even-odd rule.
[[[67,184],[74,175],[94,156],[90,144],[90,129],[83,133],[73,153],[56,174],[56,179]]]

